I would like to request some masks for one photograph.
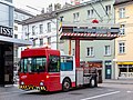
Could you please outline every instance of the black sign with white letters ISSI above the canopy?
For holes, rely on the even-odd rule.
[[[12,30],[12,28],[0,26],[0,34],[1,36],[7,36],[7,37],[12,37],[13,36],[13,30]]]

